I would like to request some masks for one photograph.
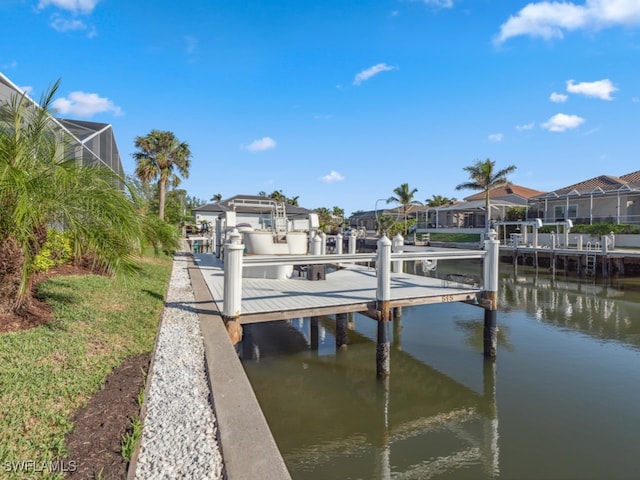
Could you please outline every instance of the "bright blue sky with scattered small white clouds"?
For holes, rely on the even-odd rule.
[[[190,145],[189,195],[347,214],[640,169],[640,0],[0,0],[0,70],[63,118]]]

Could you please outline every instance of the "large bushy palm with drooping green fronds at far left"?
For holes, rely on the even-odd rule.
[[[34,259],[52,226],[70,235],[76,258],[89,253],[110,273],[135,270],[140,217],[122,178],[65,155],[74,149],[50,113],[58,85],[39,107],[26,95],[0,105],[0,313],[28,311]]]

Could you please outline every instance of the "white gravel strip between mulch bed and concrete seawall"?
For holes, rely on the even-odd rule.
[[[187,256],[177,254],[148,380],[136,479],[223,479]]]

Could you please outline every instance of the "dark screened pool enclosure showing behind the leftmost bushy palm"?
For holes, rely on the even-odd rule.
[[[25,95],[24,92],[0,73],[0,105],[21,95]],[[25,98],[39,108],[37,102],[27,95]],[[102,164],[124,178],[124,168],[111,125],[54,117],[51,125],[53,131],[60,137],[64,158],[73,158],[85,165]],[[121,187],[124,189],[124,183]]]

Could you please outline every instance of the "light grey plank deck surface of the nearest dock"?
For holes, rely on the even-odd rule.
[[[457,252],[459,253],[459,252]],[[408,254],[407,254],[408,255]],[[327,255],[331,260],[332,255]],[[440,256],[442,258],[442,256]],[[224,311],[224,270],[212,254],[197,254],[195,261],[220,314]],[[334,260],[335,261],[335,260]],[[285,280],[243,278],[240,323],[285,320],[299,317],[376,309],[374,268],[344,264],[329,271],[325,280],[295,275]],[[391,274],[391,308],[444,302],[478,302],[478,285],[450,282],[410,273]]]

